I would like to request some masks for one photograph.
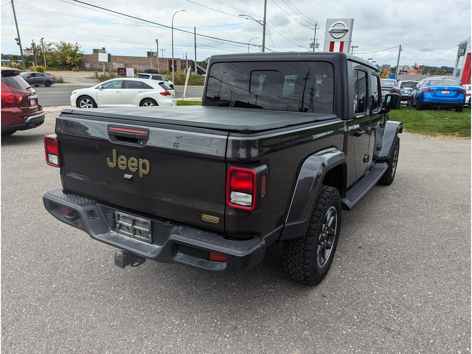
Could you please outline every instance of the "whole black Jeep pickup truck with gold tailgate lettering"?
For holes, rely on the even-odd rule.
[[[391,184],[400,122],[377,68],[343,53],[210,58],[201,106],[63,109],[44,138],[59,220],[146,259],[248,269],[282,243],[287,274],[318,284],[341,209]]]

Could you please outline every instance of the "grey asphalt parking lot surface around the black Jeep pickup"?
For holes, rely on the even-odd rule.
[[[57,113],[2,138],[3,353],[470,352],[470,140],[401,135],[394,183],[343,212],[331,270],[306,287],[277,248],[229,275],[114,266],[43,207]]]

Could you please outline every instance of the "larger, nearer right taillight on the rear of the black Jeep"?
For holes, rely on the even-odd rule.
[[[226,204],[237,209],[256,207],[257,173],[254,170],[230,167],[226,179]]]

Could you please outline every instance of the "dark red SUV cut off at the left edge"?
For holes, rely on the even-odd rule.
[[[2,67],[2,136],[44,123],[38,94],[20,73],[21,70]]]

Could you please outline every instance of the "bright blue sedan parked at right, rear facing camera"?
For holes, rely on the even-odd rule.
[[[459,81],[432,77],[421,80],[410,96],[410,105],[417,110],[428,107],[449,107],[461,112],[465,104],[465,89]]]

